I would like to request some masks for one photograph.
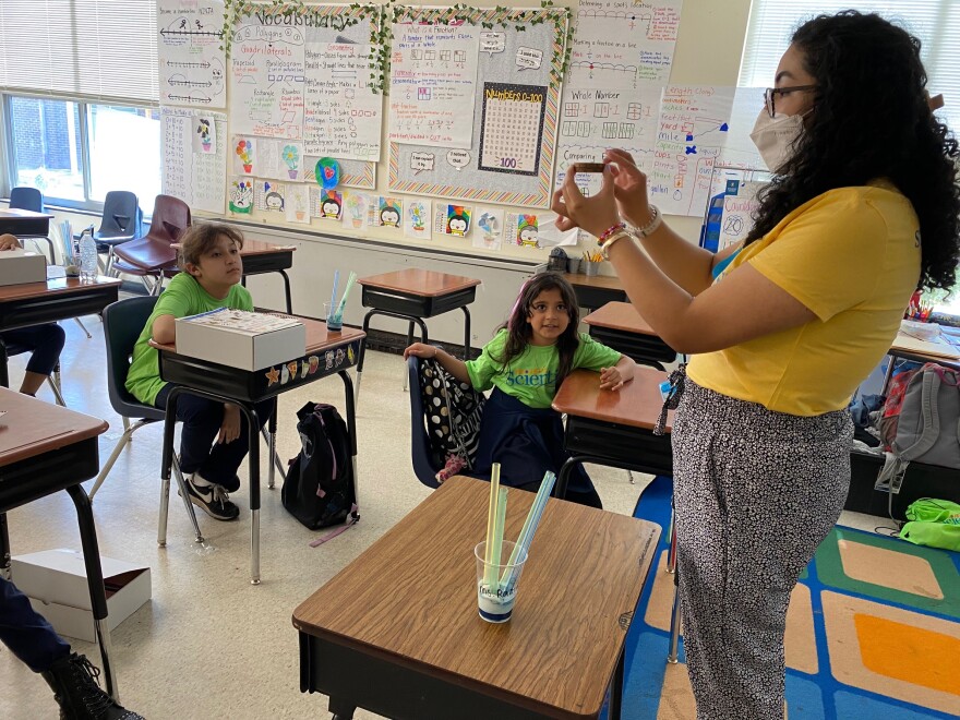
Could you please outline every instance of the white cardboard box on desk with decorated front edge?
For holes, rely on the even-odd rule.
[[[221,308],[176,321],[177,352],[241,370],[307,355],[307,328],[292,317]]]

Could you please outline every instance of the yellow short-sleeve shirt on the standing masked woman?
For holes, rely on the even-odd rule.
[[[717,281],[744,263],[816,320],[697,355],[687,373],[769,410],[821,415],[845,408],[890,348],[920,277],[920,223],[887,182],[839,188],[744,248]]]

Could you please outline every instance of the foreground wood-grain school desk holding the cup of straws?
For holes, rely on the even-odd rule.
[[[300,689],[338,719],[620,718],[652,523],[550,500],[502,625],[477,611],[490,484],[454,477],[293,611]],[[505,537],[535,494],[507,491]]]

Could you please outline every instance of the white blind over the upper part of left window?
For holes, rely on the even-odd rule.
[[[157,105],[156,0],[0,1],[0,89]]]

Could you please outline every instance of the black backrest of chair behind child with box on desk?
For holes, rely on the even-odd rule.
[[[110,405],[125,418],[163,420],[164,411],[144,405],[127,391],[127,374],[133,346],[154,311],[157,298],[128,298],[104,310],[104,339],[107,343],[107,392]]]

